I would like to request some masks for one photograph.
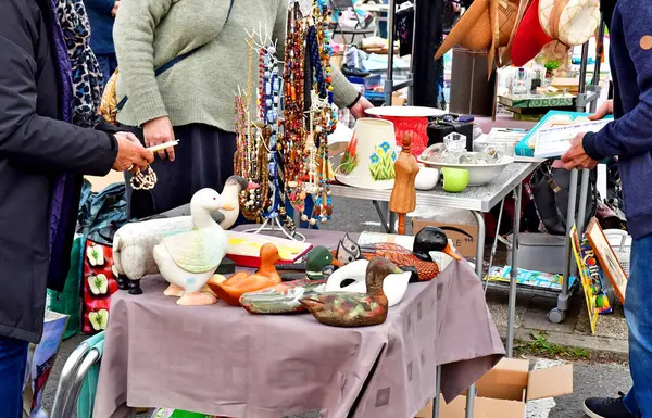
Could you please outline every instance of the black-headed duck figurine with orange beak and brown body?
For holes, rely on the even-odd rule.
[[[449,244],[448,237],[440,228],[428,226],[414,237],[413,251],[394,243],[376,243],[362,245],[362,255],[366,259],[385,257],[405,271],[412,271],[410,281],[432,280],[439,275],[439,265],[430,256],[430,252],[439,251],[460,261],[462,257]]]

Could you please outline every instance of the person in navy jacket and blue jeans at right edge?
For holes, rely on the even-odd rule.
[[[607,4],[611,3],[611,4]],[[589,398],[592,418],[652,417],[652,1],[603,0],[610,25],[610,62],[615,121],[597,134],[574,140],[562,157],[567,168],[593,168],[618,156],[625,214],[631,235],[631,261],[625,316],[629,326],[629,367],[634,385],[618,398]]]

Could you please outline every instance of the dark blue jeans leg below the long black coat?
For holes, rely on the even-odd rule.
[[[26,341],[0,335],[0,418],[23,417]]]

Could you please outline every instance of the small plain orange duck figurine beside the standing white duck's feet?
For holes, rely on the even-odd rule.
[[[211,290],[229,305],[240,306],[240,296],[280,283],[280,276],[274,264],[280,259],[278,249],[274,244],[261,246],[261,267],[255,274],[239,271],[222,283],[209,282]]]

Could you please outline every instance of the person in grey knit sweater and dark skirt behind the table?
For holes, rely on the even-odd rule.
[[[152,165],[156,187],[130,191],[130,216],[177,207],[205,187],[222,190],[234,170],[234,91],[247,85],[249,72],[246,29],[269,28],[284,56],[287,10],[288,0],[121,1],[113,35],[117,100],[128,101],[117,121],[148,147],[180,140]],[[154,74],[189,51],[195,52]],[[333,88],[336,105],[350,107],[355,117],[372,106],[337,68]]]

